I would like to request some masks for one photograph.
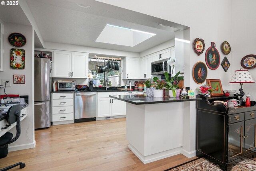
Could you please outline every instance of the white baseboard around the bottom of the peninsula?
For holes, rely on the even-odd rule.
[[[153,155],[147,155],[147,156],[143,156],[138,150],[136,150],[131,144],[128,145],[128,148],[140,159],[140,161],[142,161],[142,163],[146,164],[146,163],[150,163],[153,161],[157,161],[160,159],[164,159],[167,157],[171,157],[177,154],[181,153],[181,148],[175,148],[175,149],[170,149],[167,151],[163,151],[160,153],[156,153]]]

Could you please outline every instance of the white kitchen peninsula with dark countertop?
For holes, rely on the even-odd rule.
[[[184,102],[202,98],[154,98],[144,94],[109,97],[126,102],[128,147],[144,164],[185,151]]]

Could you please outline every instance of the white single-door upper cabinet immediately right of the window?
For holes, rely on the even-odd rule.
[[[123,63],[123,79],[140,79],[139,77],[139,67],[140,59],[133,57],[125,57],[122,60]]]

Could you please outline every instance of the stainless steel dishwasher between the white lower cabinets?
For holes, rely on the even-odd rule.
[[[97,93],[75,92],[75,123],[96,120]]]

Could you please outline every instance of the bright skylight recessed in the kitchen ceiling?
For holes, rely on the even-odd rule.
[[[96,41],[134,47],[154,35],[156,34],[107,24]]]

